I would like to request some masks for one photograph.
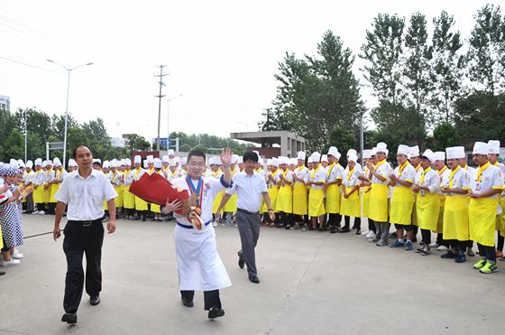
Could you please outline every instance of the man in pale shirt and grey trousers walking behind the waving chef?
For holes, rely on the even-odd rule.
[[[219,211],[225,206],[226,201],[236,191],[237,224],[242,242],[242,250],[238,252],[238,265],[240,268],[243,268],[244,264],[247,265],[249,280],[256,284],[260,283],[260,279],[256,270],[254,247],[256,247],[258,237],[260,237],[262,219],[259,210],[262,204],[262,196],[268,207],[270,219],[272,221],[275,219],[267,185],[262,176],[254,172],[254,166],[258,163],[258,159],[258,154],[251,151],[243,155],[244,172],[234,174],[233,185],[230,189],[226,190],[223,200],[221,200],[221,204],[216,210],[217,216]]]

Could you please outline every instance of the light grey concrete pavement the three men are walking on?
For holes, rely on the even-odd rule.
[[[53,222],[53,216],[23,215],[24,235],[49,232]],[[60,321],[63,237],[58,242],[51,234],[26,238],[18,247],[24,254],[21,265],[0,267],[6,272],[0,277],[0,334],[479,334],[505,329],[505,262],[499,262],[500,272],[482,275],[473,269],[478,256],[455,264],[440,258],[445,252],[420,256],[376,247],[353,232],[276,228],[262,228],[256,247],[260,284],[251,283],[237,265],[238,229],[216,228],[217,249],[233,286],[220,291],[225,316],[209,321],[202,293],[196,293],[193,308],[180,302],[174,225],[117,221],[115,233],[104,240],[102,302],[93,307],[84,293],[74,326]]]

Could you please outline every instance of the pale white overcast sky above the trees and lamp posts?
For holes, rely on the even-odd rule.
[[[108,134],[158,135],[168,129],[229,137],[256,131],[271,107],[286,52],[316,55],[331,30],[355,56],[365,106],[375,107],[357,55],[377,14],[433,18],[445,10],[467,39],[488,2],[461,1],[37,1],[0,0],[0,95],[18,107],[79,123],[101,117]],[[503,14],[503,12],[502,12]],[[179,97],[180,96],[180,97]],[[167,99],[173,98],[170,103]],[[372,126],[372,125],[369,125]]]

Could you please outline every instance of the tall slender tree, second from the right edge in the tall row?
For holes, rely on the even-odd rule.
[[[430,105],[435,109],[436,121],[454,123],[454,102],[461,95],[464,56],[457,54],[463,47],[461,33],[450,33],[454,26],[454,17],[442,11],[434,18],[433,65],[431,81],[435,92],[430,98]]]

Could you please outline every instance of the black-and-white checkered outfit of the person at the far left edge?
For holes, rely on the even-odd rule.
[[[14,184],[11,186],[14,192]],[[21,202],[16,201],[0,206],[0,227],[4,237],[4,247],[23,246],[23,228],[21,226]]]

